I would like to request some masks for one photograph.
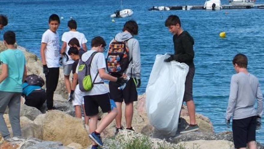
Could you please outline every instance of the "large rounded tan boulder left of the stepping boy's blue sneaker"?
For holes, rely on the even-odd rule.
[[[46,113],[42,131],[44,140],[61,141],[64,145],[75,142],[83,147],[91,144],[82,120],[59,110]]]

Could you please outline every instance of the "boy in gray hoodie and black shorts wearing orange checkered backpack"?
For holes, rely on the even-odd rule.
[[[115,38],[110,42],[112,43],[114,40],[117,42],[128,42],[129,49],[129,64],[127,69],[124,71],[126,76],[129,76],[130,79],[127,82],[126,87],[123,90],[119,90],[119,85],[116,82],[109,82],[110,89],[110,98],[116,102],[118,115],[116,116],[116,134],[119,132],[119,129],[123,129],[121,126],[122,120],[122,102],[125,101],[125,119],[126,119],[126,127],[129,130],[133,130],[131,123],[133,118],[133,102],[137,101],[137,88],[140,87],[140,47],[137,39],[134,38],[134,35],[138,34],[138,25],[135,21],[129,20],[125,23],[123,27],[123,32],[118,33]],[[107,52],[108,53],[108,52]],[[120,77],[122,74],[113,74],[112,76]],[[133,130],[134,131],[134,130]]]

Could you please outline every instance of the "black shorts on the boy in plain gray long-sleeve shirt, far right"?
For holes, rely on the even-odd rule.
[[[233,120],[232,130],[235,148],[247,147],[247,142],[256,141],[256,116]]]

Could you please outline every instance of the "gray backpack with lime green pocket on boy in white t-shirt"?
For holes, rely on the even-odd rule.
[[[90,72],[91,62],[96,53],[98,52],[92,53],[91,56],[88,58],[88,60],[85,62],[82,61],[82,59],[80,59],[79,61],[78,82],[79,82],[79,88],[82,92],[90,91],[93,88],[94,84],[104,84],[104,82],[95,83],[95,80],[99,72],[97,72],[94,81],[92,81],[92,78],[91,78],[91,72]]]

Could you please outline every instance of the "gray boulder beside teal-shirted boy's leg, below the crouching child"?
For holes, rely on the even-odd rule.
[[[35,120],[35,118],[40,114],[42,114],[41,111],[35,107],[30,107],[26,104],[20,105],[20,116],[26,116],[29,120]]]

